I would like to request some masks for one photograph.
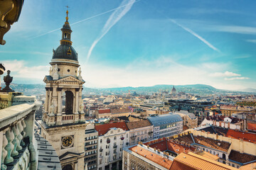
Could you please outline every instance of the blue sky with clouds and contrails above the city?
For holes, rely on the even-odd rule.
[[[256,88],[256,1],[233,0],[25,1],[0,47],[14,83],[43,84],[66,5],[85,86]]]

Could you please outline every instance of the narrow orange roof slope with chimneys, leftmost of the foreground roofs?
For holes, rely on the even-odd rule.
[[[164,157],[161,157],[159,154],[155,154],[154,152],[150,152],[147,149],[144,149],[142,147],[139,147],[139,145],[135,147],[129,148],[132,152],[135,152],[142,157],[149,159],[151,162],[155,162],[156,164],[159,164],[160,166],[163,166],[166,169],[170,169],[172,161],[169,159],[166,159]]]

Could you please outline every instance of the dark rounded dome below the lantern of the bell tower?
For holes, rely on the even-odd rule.
[[[53,51],[53,59],[75,60],[78,62],[78,53],[71,45],[60,45]]]

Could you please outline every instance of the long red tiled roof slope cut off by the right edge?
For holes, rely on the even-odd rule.
[[[228,130],[226,137],[234,139],[242,139],[246,142],[256,143],[256,134],[251,132],[241,132],[237,130]]]

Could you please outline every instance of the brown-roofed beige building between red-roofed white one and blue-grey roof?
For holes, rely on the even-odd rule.
[[[146,142],[153,140],[153,125],[151,125],[149,120],[139,120],[126,124],[129,129],[130,145],[135,145],[139,143],[139,141]]]

